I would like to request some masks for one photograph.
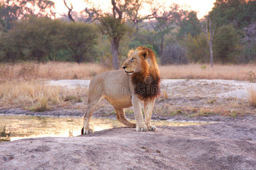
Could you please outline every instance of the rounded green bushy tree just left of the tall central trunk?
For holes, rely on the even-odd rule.
[[[97,44],[97,28],[88,23],[67,23],[62,33],[63,48],[66,49],[72,58],[80,63],[84,54],[89,53]]]

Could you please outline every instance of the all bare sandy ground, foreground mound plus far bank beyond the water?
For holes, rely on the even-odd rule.
[[[76,88],[87,87],[89,80],[48,83]],[[256,108],[247,102],[250,88],[255,89],[256,83],[162,80],[163,95],[156,100],[153,119],[217,123],[140,133],[118,128],[81,137],[4,142],[0,143],[0,169],[255,169]],[[0,114],[82,116],[86,103],[73,105],[48,112],[0,109]],[[102,101],[94,117],[115,117],[112,111]],[[203,116],[195,116],[198,113]],[[133,118],[131,112],[126,115]]]

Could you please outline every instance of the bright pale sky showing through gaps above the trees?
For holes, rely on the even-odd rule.
[[[63,0],[52,0],[55,2],[55,9],[57,12],[57,17],[60,14],[67,14],[67,7],[65,7]],[[86,7],[86,3],[84,0],[66,0],[67,3],[72,3],[73,11],[82,11]],[[190,9],[197,12],[197,18],[201,19],[204,15],[206,15],[212,7],[214,6],[213,3],[215,0],[162,0],[156,2],[160,4],[165,4],[166,6],[170,6],[172,3],[177,3],[186,10]],[[102,10],[109,10],[112,8],[110,0],[94,0],[96,6],[100,5]],[[150,6],[145,6],[145,8],[141,11],[142,15],[150,14]]]

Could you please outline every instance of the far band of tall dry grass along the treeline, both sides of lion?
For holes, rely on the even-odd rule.
[[[228,79],[256,81],[255,65],[169,65],[159,66],[162,79]],[[0,65],[0,80],[57,80],[91,79],[98,73],[107,71],[96,63],[71,62],[24,62]]]

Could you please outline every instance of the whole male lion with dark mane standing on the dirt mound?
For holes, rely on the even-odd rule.
[[[82,134],[92,133],[89,128],[90,117],[102,99],[113,105],[117,120],[136,131],[155,131],[151,125],[151,116],[155,99],[160,94],[160,76],[155,54],[151,49],[139,46],[130,50],[123,70],[100,73],[90,81],[87,111],[84,114]],[[144,116],[141,109],[144,103]],[[133,106],[136,124],[127,120],[125,108]]]

